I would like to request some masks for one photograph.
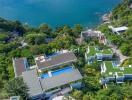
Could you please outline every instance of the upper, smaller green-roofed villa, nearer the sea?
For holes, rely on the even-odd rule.
[[[85,60],[88,64],[91,64],[94,60],[104,61],[112,58],[113,52],[111,49],[99,49],[96,46],[88,46],[85,53]]]

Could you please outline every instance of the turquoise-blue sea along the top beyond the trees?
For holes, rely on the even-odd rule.
[[[100,16],[121,0],[0,0],[0,17],[20,20],[33,26],[82,24],[95,26]]]

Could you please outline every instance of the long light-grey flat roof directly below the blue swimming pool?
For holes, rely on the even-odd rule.
[[[74,69],[71,72],[63,73],[57,76],[52,76],[50,78],[41,79],[41,83],[43,89],[46,91],[48,89],[62,86],[80,79],[82,79],[82,75],[80,74],[78,69]]]

